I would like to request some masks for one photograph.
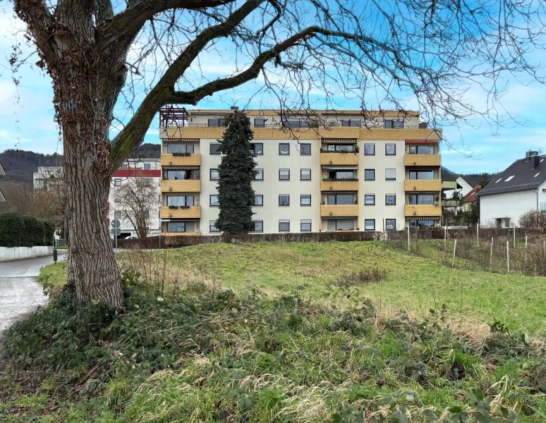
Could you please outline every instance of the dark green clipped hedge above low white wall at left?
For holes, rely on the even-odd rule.
[[[0,247],[35,247],[52,245],[55,224],[49,219],[0,213]]]

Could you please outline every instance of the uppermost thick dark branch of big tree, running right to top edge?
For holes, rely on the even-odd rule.
[[[137,34],[146,21],[157,13],[175,8],[200,10],[209,7],[222,6],[235,0],[140,0],[128,6],[125,11],[98,27],[102,48],[107,47],[117,39],[128,34]],[[132,37],[131,37],[132,38]]]

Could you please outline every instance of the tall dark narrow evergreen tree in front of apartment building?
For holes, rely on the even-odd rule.
[[[216,221],[219,231],[231,235],[248,233],[252,225],[255,154],[250,147],[254,133],[250,119],[241,111],[226,116],[227,129],[220,141],[222,162],[218,168],[218,201],[220,212]]]

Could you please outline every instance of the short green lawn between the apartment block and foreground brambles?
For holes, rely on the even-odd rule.
[[[450,269],[383,243],[214,244],[170,252],[171,262],[188,271],[188,280],[216,281],[236,292],[255,287],[269,295],[299,291],[319,302],[358,302],[410,312],[440,309],[499,320],[510,329],[546,331],[546,278]],[[384,269],[387,277],[358,283],[358,273]],[[346,283],[338,286],[343,278]],[[355,285],[351,285],[351,279]]]

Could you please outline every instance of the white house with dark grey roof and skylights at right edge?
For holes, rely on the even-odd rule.
[[[546,212],[546,155],[527,152],[499,173],[483,190],[480,224],[508,228],[517,226],[522,214],[530,210]]]

